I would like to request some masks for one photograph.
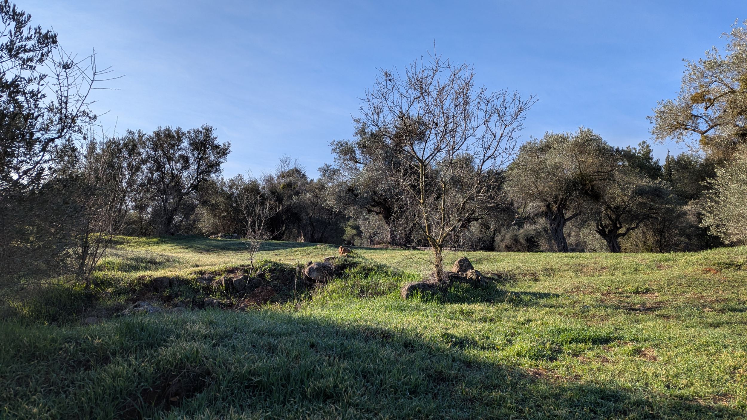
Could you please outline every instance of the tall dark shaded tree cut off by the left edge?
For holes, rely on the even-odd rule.
[[[10,1],[0,20],[0,278],[56,275],[77,217],[70,156],[96,120],[89,95],[108,69],[64,51]]]

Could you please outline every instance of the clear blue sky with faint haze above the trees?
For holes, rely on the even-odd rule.
[[[297,158],[309,175],[349,139],[377,69],[433,48],[474,64],[478,84],[539,102],[523,131],[584,125],[612,145],[648,140],[645,116],[679,90],[746,1],[19,0],[68,51],[96,48],[94,109],[108,132],[213,125],[231,140],[226,176]],[[658,157],[674,144],[656,145]]]

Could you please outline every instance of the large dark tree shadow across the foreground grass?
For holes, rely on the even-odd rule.
[[[489,363],[405,330],[277,311],[0,325],[16,418],[726,418],[743,411]],[[50,375],[49,372],[55,372]]]

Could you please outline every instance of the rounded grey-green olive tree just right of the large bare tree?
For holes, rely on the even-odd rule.
[[[545,134],[524,143],[509,166],[506,189],[525,219],[544,217],[556,251],[568,252],[563,228],[581,215],[585,201],[601,198],[601,187],[613,179],[613,148],[589,128],[575,133]]]

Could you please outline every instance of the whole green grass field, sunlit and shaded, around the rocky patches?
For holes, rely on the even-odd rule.
[[[335,251],[266,242],[259,257],[297,264]],[[2,416],[747,417],[746,247],[449,253],[447,263],[465,255],[501,280],[409,301],[399,286],[429,272],[428,251],[354,252],[365,269],[294,300],[81,325],[84,307],[121,304],[137,276],[248,263],[238,240],[122,238],[101,264],[105,298],[64,288],[6,296]]]

